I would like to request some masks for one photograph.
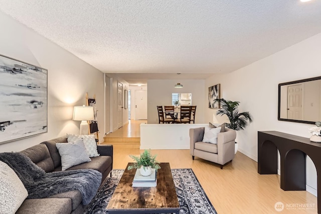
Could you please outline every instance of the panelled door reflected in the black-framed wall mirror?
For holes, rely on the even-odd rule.
[[[287,119],[303,120],[302,84],[287,87]]]

